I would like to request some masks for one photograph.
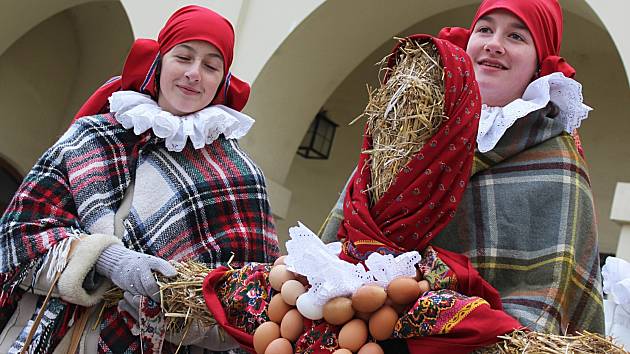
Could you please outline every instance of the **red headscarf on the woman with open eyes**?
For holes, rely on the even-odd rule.
[[[538,56],[539,76],[561,72],[573,78],[575,69],[560,57],[562,9],[557,0],[485,0],[479,5],[470,29],[446,27],[439,38],[466,49],[477,21],[491,11],[503,9],[518,17],[532,34]]]

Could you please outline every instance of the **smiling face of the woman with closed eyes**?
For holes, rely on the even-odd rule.
[[[212,102],[223,74],[223,58],[215,46],[180,43],[162,58],[158,105],[178,116],[197,112]]]

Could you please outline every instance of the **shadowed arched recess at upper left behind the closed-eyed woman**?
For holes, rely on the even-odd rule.
[[[20,4],[3,5],[0,15],[8,26],[0,36],[0,151],[28,171],[120,71],[133,34],[119,1],[46,2],[32,12]]]

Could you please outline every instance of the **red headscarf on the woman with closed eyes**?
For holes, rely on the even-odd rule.
[[[192,5],[182,7],[171,15],[157,41],[137,39],[125,60],[121,76],[109,80],[97,89],[74,119],[106,112],[108,98],[120,90],[137,91],[157,100],[155,74],[161,56],[180,43],[194,40],[212,44],[223,57],[223,81],[211,104],[242,110],[249,98],[250,87],[229,71],[234,52],[234,29],[223,16],[205,7]]]

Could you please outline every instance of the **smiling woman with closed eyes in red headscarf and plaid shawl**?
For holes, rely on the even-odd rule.
[[[152,272],[277,257],[264,176],[237,143],[253,119],[233,47],[225,18],[181,8],[33,167],[0,221],[1,352],[168,352]],[[112,283],[124,300],[99,314]],[[184,345],[237,346],[217,331]]]

